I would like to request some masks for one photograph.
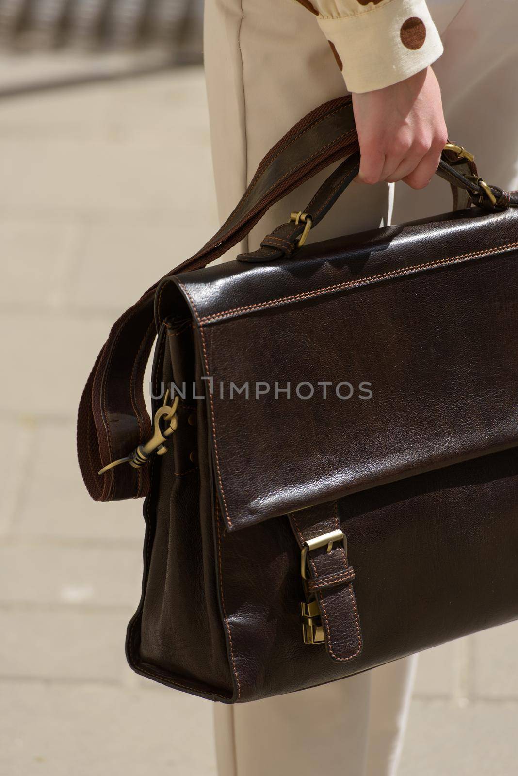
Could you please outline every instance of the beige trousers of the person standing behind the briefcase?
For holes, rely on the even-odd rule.
[[[449,136],[475,153],[489,182],[516,188],[518,0],[428,5],[444,42],[433,69]],[[316,20],[298,4],[205,0],[205,6],[212,151],[223,220],[278,138],[345,88]],[[272,207],[240,250],[257,248],[264,234],[301,210],[328,173]],[[351,185],[310,239],[431,216],[449,210],[450,199],[449,186],[439,179],[422,192],[403,184]],[[219,776],[393,776],[414,669],[415,658],[409,658],[294,695],[216,705]]]

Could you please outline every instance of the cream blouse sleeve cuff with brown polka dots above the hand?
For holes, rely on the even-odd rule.
[[[298,0],[318,14],[350,92],[418,73],[443,53],[425,0]]]

